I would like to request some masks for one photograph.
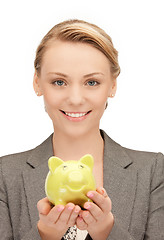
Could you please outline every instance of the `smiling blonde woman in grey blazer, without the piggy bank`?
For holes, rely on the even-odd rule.
[[[80,20],[56,25],[41,41],[33,84],[54,133],[35,149],[1,158],[2,239],[164,239],[163,155],[124,148],[99,130],[116,93],[117,57],[111,38]],[[87,153],[94,157],[93,202],[85,210],[52,206],[44,192],[47,160]]]

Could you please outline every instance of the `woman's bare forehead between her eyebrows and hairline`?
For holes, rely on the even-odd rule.
[[[54,68],[94,68],[94,71],[109,71],[110,63],[100,50],[90,44],[56,40],[46,49],[42,68],[46,71],[52,71]]]

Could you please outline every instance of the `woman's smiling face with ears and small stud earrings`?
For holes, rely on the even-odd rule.
[[[115,94],[107,57],[86,43],[55,41],[45,52],[34,89],[43,95],[54,131],[79,136],[99,129],[107,98]]]

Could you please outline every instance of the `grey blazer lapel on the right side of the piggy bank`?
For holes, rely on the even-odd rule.
[[[104,132],[104,188],[112,200],[112,212],[126,229],[130,225],[131,213],[137,189],[136,170],[124,148],[110,139]]]

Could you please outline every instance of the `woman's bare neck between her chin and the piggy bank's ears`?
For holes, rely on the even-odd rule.
[[[55,131],[53,135],[53,150],[54,155],[64,161],[79,160],[85,154],[91,154],[95,161],[101,161],[104,142],[99,129],[79,137],[67,136]]]

